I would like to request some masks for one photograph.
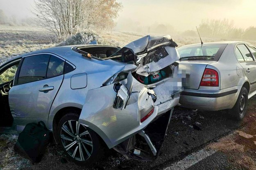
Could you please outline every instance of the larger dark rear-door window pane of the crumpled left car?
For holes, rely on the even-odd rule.
[[[20,67],[17,84],[30,83],[46,78],[50,54],[25,57]]]

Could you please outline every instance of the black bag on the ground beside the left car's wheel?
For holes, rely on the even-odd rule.
[[[49,140],[50,131],[43,121],[38,124],[28,123],[18,136],[14,151],[18,152],[23,158],[29,159],[32,163],[40,162]]]

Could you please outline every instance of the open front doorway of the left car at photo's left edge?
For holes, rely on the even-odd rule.
[[[13,117],[11,115],[9,107],[9,90],[13,85],[13,79],[18,68],[18,63],[14,63],[11,67],[5,69],[0,74],[0,126],[1,127],[10,127],[13,123]]]

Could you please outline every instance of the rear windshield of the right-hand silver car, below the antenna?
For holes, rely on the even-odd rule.
[[[219,60],[227,44],[203,44],[179,47],[180,60]]]

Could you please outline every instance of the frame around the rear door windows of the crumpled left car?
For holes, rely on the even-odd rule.
[[[48,54],[48,55],[50,55],[50,58],[51,58],[51,56],[55,56],[55,57],[60,58],[61,60],[63,60],[63,61],[64,61],[63,73],[60,74],[60,75],[58,75],[58,76],[64,75],[65,64],[66,64],[66,61],[67,61],[67,60],[65,60],[64,58],[62,58],[62,57],[60,57],[60,56],[57,56],[56,54],[53,54],[53,53],[36,53],[36,54],[31,54],[31,55],[23,56],[23,57],[21,58],[20,64],[18,65],[16,74],[15,74],[15,76],[14,76],[14,85],[13,85],[13,86],[16,86],[16,85],[23,85],[23,84],[27,84],[27,83],[33,83],[33,82],[37,82],[37,81],[41,81],[41,80],[46,80],[46,79],[49,79],[49,78],[57,77],[57,76],[45,77],[45,78],[40,79],[40,80],[37,80],[37,81],[32,81],[32,82],[27,82],[27,83],[20,83],[20,84],[18,84],[18,76],[20,75],[20,69],[21,69],[21,66],[22,66],[22,64],[23,64],[24,59],[27,58],[27,57],[38,56],[38,55],[43,55],[43,54]],[[50,58],[49,58],[49,61],[50,61]],[[48,65],[49,65],[49,61],[48,61]],[[74,66],[72,65],[72,67],[74,67]],[[47,69],[48,69],[48,66],[47,66]]]

